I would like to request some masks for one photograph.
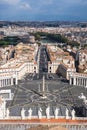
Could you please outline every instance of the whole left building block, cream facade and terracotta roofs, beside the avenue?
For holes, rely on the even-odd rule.
[[[0,87],[17,85],[26,73],[38,73],[37,45],[20,43],[15,47],[15,57],[0,66]],[[38,56],[37,56],[38,57]]]

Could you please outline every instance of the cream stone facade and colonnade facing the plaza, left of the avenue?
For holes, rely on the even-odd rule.
[[[14,63],[12,65],[14,65]],[[22,77],[26,73],[38,73],[38,64],[33,62],[25,62],[21,64],[15,63],[15,66],[1,68],[0,87],[5,87],[14,84],[17,85],[18,80],[22,79]]]

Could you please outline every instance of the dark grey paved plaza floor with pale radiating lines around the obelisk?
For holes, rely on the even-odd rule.
[[[43,75],[45,77],[45,96],[41,98]],[[81,93],[87,95],[86,88],[80,86],[69,85],[64,78],[58,77],[56,74],[27,74],[19,81],[18,85],[0,88],[1,90],[11,89],[13,99],[7,101],[7,108],[10,110],[10,116],[21,116],[21,109],[25,109],[25,116],[28,115],[29,108],[32,109],[32,116],[38,115],[38,108],[42,109],[42,115],[46,116],[46,108],[50,107],[50,115],[54,116],[54,109],[59,109],[59,116],[65,116],[66,108],[71,110],[76,108],[77,116],[81,115],[81,107],[83,101],[78,98]],[[5,95],[4,95],[5,96]]]

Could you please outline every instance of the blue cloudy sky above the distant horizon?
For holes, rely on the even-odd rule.
[[[87,21],[87,0],[0,0],[0,20]]]

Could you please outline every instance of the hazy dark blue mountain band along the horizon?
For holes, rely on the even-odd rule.
[[[87,27],[87,22],[70,22],[70,21],[0,21],[0,27],[16,25],[28,27]]]

